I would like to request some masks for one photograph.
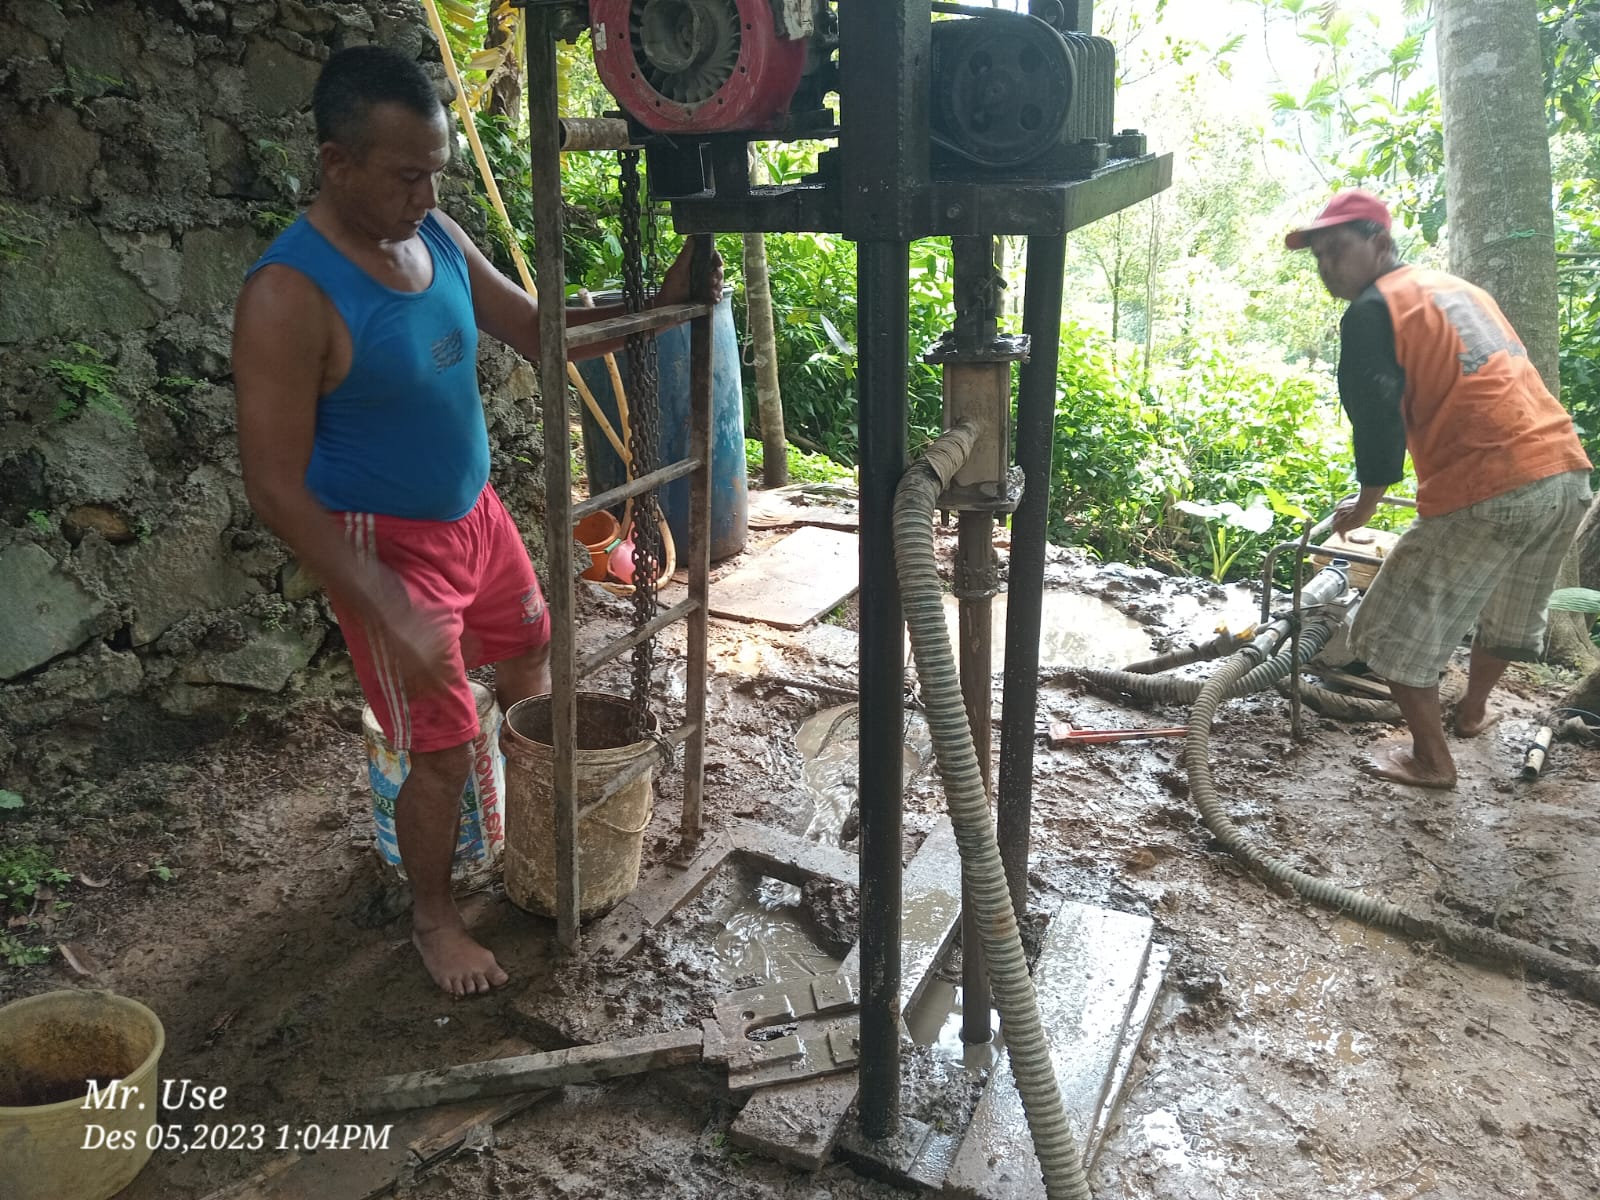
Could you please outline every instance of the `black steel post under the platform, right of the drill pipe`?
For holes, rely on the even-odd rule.
[[[1011,518],[1006,573],[1005,688],[1000,718],[1000,803],[995,834],[1016,918],[1027,915],[1027,842],[1034,808],[1034,718],[1038,710],[1038,626],[1050,522],[1050,451],[1061,357],[1061,291],[1066,237],[1027,240],[1022,333],[1032,338],[1016,394],[1016,462],[1026,490]]]

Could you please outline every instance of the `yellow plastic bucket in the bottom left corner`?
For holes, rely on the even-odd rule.
[[[110,992],[0,1008],[0,1194],[107,1200],[133,1182],[160,1139],[165,1045],[155,1013]]]

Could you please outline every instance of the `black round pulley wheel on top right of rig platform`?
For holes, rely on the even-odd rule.
[[[934,138],[986,166],[1018,166],[1061,141],[1077,70],[1043,21],[997,13],[939,21],[934,38]]]

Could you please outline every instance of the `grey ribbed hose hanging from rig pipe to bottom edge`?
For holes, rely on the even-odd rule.
[[[1038,1019],[1038,997],[1027,973],[1022,938],[1011,909],[1011,890],[995,842],[966,704],[944,622],[944,597],[934,565],[933,510],[939,493],[971,453],[976,426],[963,421],[934,442],[906,472],[894,494],[894,565],[910,629],[910,648],[922,683],[933,750],[944,778],[950,824],[962,851],[962,877],[982,925],[984,955],[995,1005],[1022,1096],[1034,1150],[1050,1200],[1090,1200],[1083,1152],[1067,1128],[1050,1046]]]

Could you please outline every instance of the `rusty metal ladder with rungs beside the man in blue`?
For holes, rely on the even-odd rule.
[[[528,67],[528,131],[533,170],[533,213],[536,238],[536,274],[541,296],[566,294],[566,256],[562,246],[562,163],[560,107],[557,99],[555,38],[563,14],[547,3],[525,0],[525,62]],[[674,304],[640,314],[626,314],[603,322],[566,330],[566,306],[539,306],[539,382],[541,426],[544,429],[546,490],[546,598],[550,610],[550,747],[555,802],[555,931],[568,950],[578,950],[579,877],[578,824],[584,813],[578,808],[578,682],[597,667],[626,653],[659,629],[688,621],[688,680],[685,722],[662,741],[669,747],[685,746],[683,813],[680,821],[680,856],[693,854],[701,835],[701,813],[706,782],[706,642],[710,582],[710,427],[712,427],[712,306],[710,235],[694,235],[690,291],[693,304]],[[646,333],[690,320],[690,453],[686,459],[653,470],[643,478],[624,483],[608,493],[573,504],[571,461],[565,453],[570,429],[570,392],[566,355],[570,349],[595,346],[629,333]],[[579,512],[637,496],[674,478],[690,478],[690,546],[683,566],[688,570],[688,598],[651,621],[645,629],[618,638],[582,662],[576,659],[573,520]],[[640,758],[602,787],[602,800],[638,778],[650,765]],[[598,802],[597,802],[598,803]],[[594,808],[594,805],[590,805]],[[587,811],[587,810],[586,810]]]

